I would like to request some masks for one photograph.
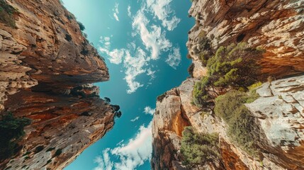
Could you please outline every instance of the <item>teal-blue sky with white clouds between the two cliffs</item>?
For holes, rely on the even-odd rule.
[[[123,115],[66,170],[150,169],[156,98],[188,77],[190,1],[63,0],[106,59],[110,81],[97,83]]]

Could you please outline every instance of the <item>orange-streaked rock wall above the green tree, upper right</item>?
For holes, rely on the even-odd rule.
[[[303,8],[303,0],[193,0],[188,12],[196,25],[188,35],[189,55],[198,60],[204,37],[215,49],[247,42],[266,50],[261,60],[264,74],[282,77],[304,72]]]

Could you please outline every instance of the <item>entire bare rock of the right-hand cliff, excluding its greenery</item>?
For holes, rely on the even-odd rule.
[[[157,99],[152,169],[186,169],[181,165],[180,148],[181,131],[188,125],[198,132],[219,134],[225,169],[304,169],[300,154],[304,140],[304,77],[300,75],[304,72],[303,8],[304,1],[193,1],[189,15],[196,19],[196,25],[187,42],[193,78]],[[193,86],[207,72],[200,59],[205,37],[213,49],[232,42],[263,48],[261,72],[264,77],[278,78],[260,86],[259,98],[245,105],[259,126],[259,160],[230,139],[225,121],[191,104]],[[287,75],[290,78],[281,79]],[[218,167],[208,164],[201,169]]]

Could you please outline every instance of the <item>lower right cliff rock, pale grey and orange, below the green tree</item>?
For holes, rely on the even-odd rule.
[[[157,101],[152,124],[152,167],[185,168],[181,166],[179,153],[180,130],[191,125],[198,132],[217,132],[220,135],[220,152],[226,169],[304,169],[301,154],[304,141],[303,79],[304,76],[299,76],[272,81],[271,85],[265,83],[257,89],[261,97],[247,104],[262,129],[259,144],[263,153],[261,160],[249,156],[230,140],[223,120],[191,105],[193,85],[197,80],[187,79]]]

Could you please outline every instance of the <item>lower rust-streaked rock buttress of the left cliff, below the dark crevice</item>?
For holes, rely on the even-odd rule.
[[[5,105],[8,111],[30,118],[32,123],[25,128],[26,136],[20,142],[23,149],[2,166],[7,163],[11,169],[63,169],[113,128],[113,108],[99,98],[98,87],[77,89],[22,90],[9,96]],[[37,152],[38,147],[43,149]],[[59,151],[62,153],[57,155]]]

